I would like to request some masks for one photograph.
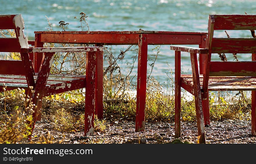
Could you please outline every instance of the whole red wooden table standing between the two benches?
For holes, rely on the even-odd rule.
[[[73,43],[99,45],[138,45],[137,105],[135,131],[145,129],[147,45],[199,45],[205,48],[207,33],[173,31],[35,31],[35,47],[43,43]],[[40,55],[38,55],[40,56]],[[201,55],[200,55],[201,57]],[[41,58],[34,56],[37,71]],[[103,118],[103,55],[98,55],[96,66],[95,114]],[[201,63],[200,63],[201,64]],[[200,66],[200,72],[201,72]]]

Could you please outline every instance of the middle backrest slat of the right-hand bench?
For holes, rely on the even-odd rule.
[[[211,53],[255,53],[256,38],[213,38]]]

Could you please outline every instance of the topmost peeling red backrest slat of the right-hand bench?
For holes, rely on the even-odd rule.
[[[214,30],[254,30],[256,26],[256,15],[218,14],[209,18],[214,22]]]

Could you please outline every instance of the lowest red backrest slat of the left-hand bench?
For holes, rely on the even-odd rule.
[[[25,75],[26,71],[21,60],[0,60],[0,74]]]

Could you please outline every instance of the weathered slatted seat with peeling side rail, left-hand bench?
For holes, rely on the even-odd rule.
[[[36,81],[38,73],[35,73]],[[23,88],[28,89],[25,75],[3,75],[0,74],[0,86],[7,86],[7,90]],[[43,96],[63,93],[67,89],[85,88],[85,75],[49,74]],[[2,87],[0,89],[2,91]]]

